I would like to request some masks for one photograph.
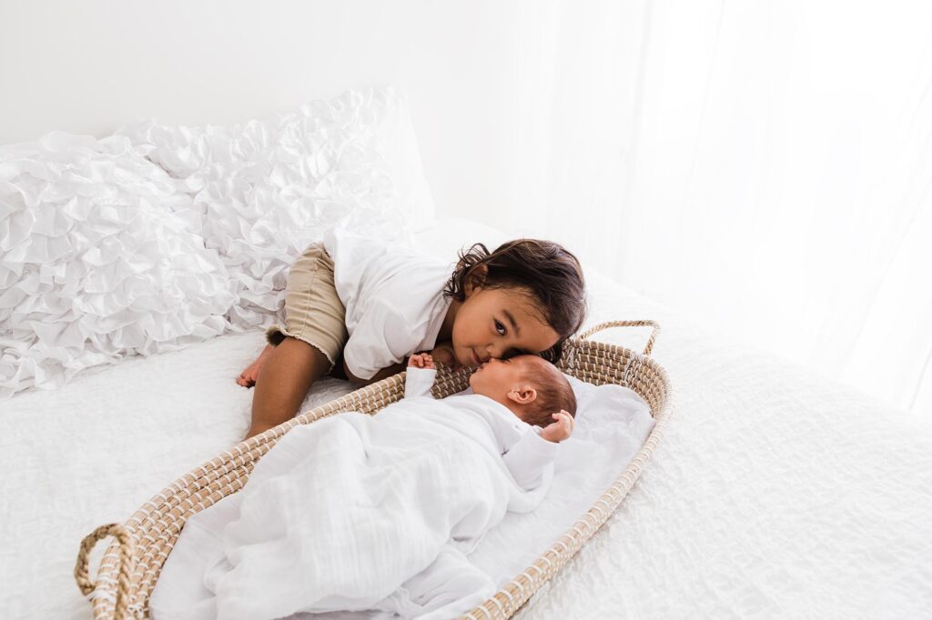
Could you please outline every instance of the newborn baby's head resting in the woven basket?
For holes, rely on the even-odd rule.
[[[538,356],[489,359],[470,376],[473,392],[500,402],[529,425],[551,424],[553,414],[576,415],[576,397],[567,378]]]

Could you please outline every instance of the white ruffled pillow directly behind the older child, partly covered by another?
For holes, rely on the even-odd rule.
[[[177,212],[236,282],[229,321],[266,327],[291,264],[334,226],[408,241],[433,218],[417,139],[393,88],[350,90],[293,114],[223,127],[122,128],[191,196]]]

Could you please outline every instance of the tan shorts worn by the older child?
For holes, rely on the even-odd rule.
[[[291,336],[315,347],[336,363],[347,344],[346,309],[334,286],[334,260],[322,243],[304,251],[291,271],[285,287],[285,324],[266,332],[269,344]]]

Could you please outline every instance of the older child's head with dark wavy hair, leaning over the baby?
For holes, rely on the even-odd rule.
[[[516,239],[460,252],[444,294],[453,299],[453,352],[464,366],[540,353],[559,360],[585,317],[583,269],[551,241]]]

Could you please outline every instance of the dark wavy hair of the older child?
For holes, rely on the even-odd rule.
[[[494,252],[481,243],[459,252],[456,271],[446,283],[445,297],[466,299],[466,283],[485,265],[484,289],[524,289],[542,318],[559,335],[556,344],[541,353],[551,362],[563,355],[563,344],[576,333],[585,318],[585,280],[580,262],[553,241],[515,239]]]

